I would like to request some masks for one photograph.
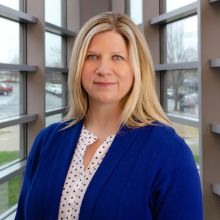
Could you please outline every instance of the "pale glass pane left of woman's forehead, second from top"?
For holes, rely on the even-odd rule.
[[[45,33],[46,66],[62,67],[62,37],[49,32]]]

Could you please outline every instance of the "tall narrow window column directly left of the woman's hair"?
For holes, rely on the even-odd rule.
[[[51,5],[53,5],[53,13],[51,13]],[[64,11],[65,8],[66,1],[63,1],[62,4],[60,0],[45,1],[46,29],[47,26],[50,26],[50,30],[45,32],[46,126],[52,122],[62,120],[65,112],[64,108],[67,105],[67,72],[62,71],[62,68],[66,68],[67,65],[67,38],[62,32],[60,32],[59,27],[52,26],[51,28],[51,24],[66,28],[65,16],[62,16],[66,13],[66,11]],[[50,69],[48,70],[48,68]],[[57,114],[57,111],[59,114]]]

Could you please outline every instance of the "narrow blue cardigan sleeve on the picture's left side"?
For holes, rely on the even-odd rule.
[[[35,173],[35,170],[37,168],[38,160],[40,157],[40,146],[43,141],[43,136],[44,136],[45,129],[43,129],[36,137],[32,147],[31,151],[29,153],[28,159],[27,159],[27,164],[26,164],[26,169],[25,169],[25,175],[24,175],[24,180],[23,180],[23,185],[18,201],[18,207],[17,207],[17,212],[15,216],[15,220],[25,220],[25,201],[26,197],[28,195],[32,179]]]

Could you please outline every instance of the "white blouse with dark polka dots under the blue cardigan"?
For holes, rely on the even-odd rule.
[[[83,156],[86,147],[94,143],[97,140],[97,136],[83,126],[64,183],[59,208],[59,220],[78,219],[80,206],[86,189],[105,157],[114,137],[115,135],[111,135],[105,139],[98,147],[89,165],[85,169]]]

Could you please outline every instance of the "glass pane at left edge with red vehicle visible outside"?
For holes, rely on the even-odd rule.
[[[22,114],[19,73],[0,71],[0,119]]]

